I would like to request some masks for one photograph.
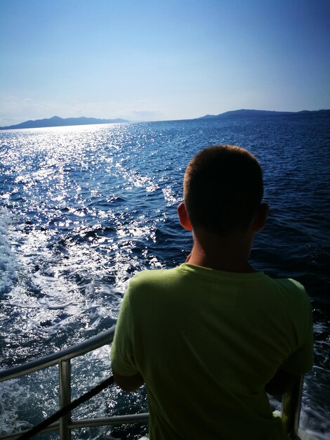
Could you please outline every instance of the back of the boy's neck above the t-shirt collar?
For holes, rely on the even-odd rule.
[[[248,261],[252,240],[244,233],[219,236],[199,232],[194,234],[194,246],[186,262],[216,271],[255,272]]]

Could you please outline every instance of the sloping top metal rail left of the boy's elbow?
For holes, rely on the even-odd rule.
[[[82,356],[88,353],[88,351],[93,351],[105,344],[110,344],[114,337],[114,326],[105,332],[100,333],[87,339],[86,341],[80,342],[72,347],[58,351],[57,353],[49,354],[43,358],[35,359],[34,361],[29,361],[21,365],[16,365],[12,368],[7,368],[5,370],[0,370],[0,382],[4,380],[14,379],[21,375],[27,375],[33,373],[34,371],[41,370],[43,368],[51,367],[60,361],[65,361],[66,359],[76,358],[77,356]]]

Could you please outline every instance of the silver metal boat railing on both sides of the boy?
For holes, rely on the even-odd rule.
[[[110,344],[114,337],[114,326],[98,336],[92,337],[80,344],[69,347],[58,353],[38,358],[35,361],[17,365],[8,370],[0,370],[0,382],[14,379],[22,375],[27,375],[37,370],[58,365],[59,369],[59,386],[60,399],[59,407],[64,408],[71,402],[71,360],[77,356],[82,356],[90,351]],[[282,398],[281,417],[284,423],[284,429],[288,434],[290,440],[298,440],[298,426],[299,416],[301,412],[301,396],[303,389],[303,376],[296,382],[291,390],[284,394]],[[71,440],[72,429],[81,427],[98,427],[106,425],[119,425],[122,423],[145,423],[148,421],[148,413],[130,414],[130,415],[112,415],[105,418],[93,419],[79,419],[72,420],[71,414],[67,414],[60,418],[60,422],[43,429],[42,432],[49,432],[53,430],[60,431],[60,440]],[[1,436],[0,440],[15,440],[18,436],[24,434],[26,431],[15,432]]]

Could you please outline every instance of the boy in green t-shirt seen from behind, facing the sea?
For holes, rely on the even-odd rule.
[[[249,264],[265,225],[263,175],[239,147],[199,152],[185,172],[185,264],[135,276],[112,345],[119,387],[145,383],[150,440],[285,439],[266,392],[286,392],[312,367],[312,317],[302,285]]]

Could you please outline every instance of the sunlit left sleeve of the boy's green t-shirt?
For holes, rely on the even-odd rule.
[[[121,303],[110,354],[112,368],[116,373],[122,376],[133,376],[138,373],[133,353],[131,304],[128,287]]]

